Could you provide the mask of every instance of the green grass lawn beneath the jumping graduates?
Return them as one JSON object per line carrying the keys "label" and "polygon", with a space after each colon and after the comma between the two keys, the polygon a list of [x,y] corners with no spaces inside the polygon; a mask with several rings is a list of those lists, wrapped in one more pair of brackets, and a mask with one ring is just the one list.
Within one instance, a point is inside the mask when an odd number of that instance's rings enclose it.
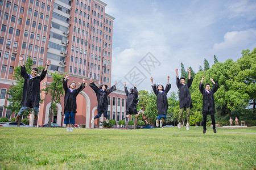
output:
{"label": "green grass lawn beneath the jumping graduates", "polygon": [[0,169],[256,168],[256,128],[65,130],[1,127]]}

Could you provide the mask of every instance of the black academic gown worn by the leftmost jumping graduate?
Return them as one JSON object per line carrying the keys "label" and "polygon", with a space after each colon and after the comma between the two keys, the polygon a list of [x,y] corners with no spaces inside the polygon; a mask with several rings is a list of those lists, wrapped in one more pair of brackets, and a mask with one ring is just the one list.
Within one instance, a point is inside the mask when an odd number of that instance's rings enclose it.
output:
{"label": "black academic gown worn by the leftmost jumping graduate", "polygon": [[26,67],[20,66],[20,74],[24,78],[22,101],[23,107],[38,107],[40,101],[40,82],[46,77],[47,70],[43,70],[39,76],[30,78],[27,74]]}

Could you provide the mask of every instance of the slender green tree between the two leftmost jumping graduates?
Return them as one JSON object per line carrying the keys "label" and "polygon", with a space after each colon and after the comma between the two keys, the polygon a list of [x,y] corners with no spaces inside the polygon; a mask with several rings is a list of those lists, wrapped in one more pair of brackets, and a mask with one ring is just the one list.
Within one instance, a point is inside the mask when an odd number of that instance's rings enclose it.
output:
{"label": "slender green tree between the two leftmost jumping graduates", "polygon": [[46,86],[42,91],[46,92],[46,95],[49,93],[52,97],[51,107],[49,109],[49,128],[51,128],[52,114],[56,108],[57,103],[60,103],[60,97],[64,94],[62,79],[65,75],[60,75],[58,72],[49,73],[52,75],[52,83],[49,86]]}

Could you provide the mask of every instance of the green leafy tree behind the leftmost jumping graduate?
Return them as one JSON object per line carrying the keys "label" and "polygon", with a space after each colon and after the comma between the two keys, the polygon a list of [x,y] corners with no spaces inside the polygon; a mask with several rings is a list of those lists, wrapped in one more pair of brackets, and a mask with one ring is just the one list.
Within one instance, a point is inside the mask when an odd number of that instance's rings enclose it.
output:
{"label": "green leafy tree behind the leftmost jumping graduate", "polygon": [[[24,62],[24,66],[26,67],[26,71],[27,73],[31,73],[32,70],[32,66],[34,66],[34,61],[28,57],[27,61]],[[40,74],[40,72],[44,69],[44,67],[39,66],[38,67],[38,73]],[[9,105],[4,105],[4,107],[6,109],[10,109],[11,113],[15,113],[16,114],[19,113],[20,110],[20,102],[22,101],[22,92],[23,92],[23,84],[24,84],[24,79],[20,74],[20,66],[16,66],[14,69],[14,74],[13,74],[13,78],[16,80],[16,83],[13,83],[9,90],[7,90],[7,94],[11,97],[6,97],[7,101],[9,101]],[[40,99],[40,103],[42,103],[43,100]],[[23,113],[23,117],[27,117],[30,113],[32,113],[32,109],[29,108],[26,112]],[[19,120],[19,124],[20,124]],[[19,126],[18,124],[18,126]]]}

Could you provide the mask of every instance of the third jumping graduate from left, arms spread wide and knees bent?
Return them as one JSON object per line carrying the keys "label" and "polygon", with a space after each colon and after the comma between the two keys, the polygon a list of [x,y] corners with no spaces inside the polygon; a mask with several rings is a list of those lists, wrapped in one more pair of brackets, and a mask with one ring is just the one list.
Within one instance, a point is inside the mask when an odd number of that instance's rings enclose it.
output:
{"label": "third jumping graduate from left, arms spread wide and knees bent", "polygon": [[97,111],[98,111],[98,114],[92,118],[92,120],[90,121],[92,124],[94,123],[94,120],[96,118],[100,118],[101,117],[101,114],[103,113],[104,117],[106,118],[106,122],[108,123],[109,120],[108,120],[108,107],[109,107],[109,104],[108,104],[108,95],[117,90],[117,88],[115,87],[115,85],[117,84],[117,81],[115,81],[115,84],[110,87],[108,89],[108,86],[105,85],[105,84],[102,84],[100,87],[97,87],[94,83],[93,83],[93,80],[92,78],[90,78],[90,87],[93,89],[93,91],[96,93],[96,96],[97,96],[97,100],[98,100],[98,107],[97,107]]}

